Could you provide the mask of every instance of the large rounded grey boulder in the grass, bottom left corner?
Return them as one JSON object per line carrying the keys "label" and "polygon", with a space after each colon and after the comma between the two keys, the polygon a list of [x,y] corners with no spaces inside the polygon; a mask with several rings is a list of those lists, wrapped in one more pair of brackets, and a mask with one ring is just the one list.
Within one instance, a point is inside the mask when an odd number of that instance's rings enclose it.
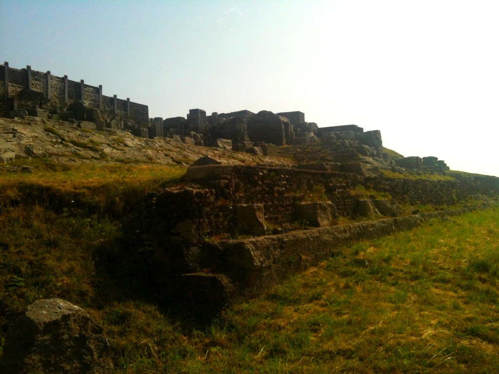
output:
{"label": "large rounded grey boulder in the grass, bottom left corner", "polygon": [[81,308],[61,299],[35,301],[10,328],[0,373],[113,372],[109,341]]}

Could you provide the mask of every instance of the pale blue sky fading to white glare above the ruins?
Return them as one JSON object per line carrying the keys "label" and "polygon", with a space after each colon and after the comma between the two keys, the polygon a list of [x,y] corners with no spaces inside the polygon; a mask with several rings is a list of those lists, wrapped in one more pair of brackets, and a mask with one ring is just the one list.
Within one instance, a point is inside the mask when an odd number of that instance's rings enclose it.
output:
{"label": "pale blue sky fading to white glare above the ruins", "polygon": [[301,111],[499,176],[497,0],[1,0],[0,61],[150,117]]}

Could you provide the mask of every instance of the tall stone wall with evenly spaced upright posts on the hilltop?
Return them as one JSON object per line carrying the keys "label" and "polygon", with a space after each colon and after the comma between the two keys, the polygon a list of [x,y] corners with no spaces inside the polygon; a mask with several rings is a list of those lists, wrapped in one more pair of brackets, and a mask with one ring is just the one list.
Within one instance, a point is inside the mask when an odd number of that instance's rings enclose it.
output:
{"label": "tall stone wall with evenly spaced upright posts on the hilltop", "polygon": [[[5,81],[7,71],[8,84]],[[8,117],[13,110],[14,100],[18,109],[32,107],[30,101],[38,101],[40,107],[56,114],[58,110],[67,108],[77,101],[85,102],[91,108],[101,111],[104,119],[132,120],[138,127],[147,127],[149,124],[149,109],[147,105],[131,102],[129,99],[118,99],[116,96],[102,95],[102,86],[90,86],[83,80],[77,82],[67,79],[67,76],[57,77],[50,74],[24,69],[14,69],[5,62],[0,65],[0,116]],[[6,89],[6,90],[5,90]],[[42,100],[27,100],[31,93],[38,93]],[[82,96],[83,94],[83,96]]]}

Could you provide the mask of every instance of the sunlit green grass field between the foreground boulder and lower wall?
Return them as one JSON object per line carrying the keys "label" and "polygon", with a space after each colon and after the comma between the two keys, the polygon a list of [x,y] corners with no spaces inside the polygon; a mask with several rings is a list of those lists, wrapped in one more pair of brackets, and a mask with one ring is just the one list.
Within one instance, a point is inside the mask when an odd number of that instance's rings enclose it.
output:
{"label": "sunlit green grass field between the foreground boulder and lower wall", "polygon": [[98,315],[120,373],[496,373],[499,210],[363,241],[200,327]]}

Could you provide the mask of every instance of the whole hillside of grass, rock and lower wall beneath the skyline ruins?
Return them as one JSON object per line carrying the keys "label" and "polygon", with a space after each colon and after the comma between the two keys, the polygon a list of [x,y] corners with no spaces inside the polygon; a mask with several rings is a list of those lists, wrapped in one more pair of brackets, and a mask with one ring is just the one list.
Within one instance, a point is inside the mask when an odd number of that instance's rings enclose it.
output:
{"label": "whole hillside of grass, rock and lower wall beneath the skyline ruins", "polygon": [[498,367],[499,179],[334,134],[270,157],[75,126],[0,119],[0,355],[56,297],[117,373]]}

